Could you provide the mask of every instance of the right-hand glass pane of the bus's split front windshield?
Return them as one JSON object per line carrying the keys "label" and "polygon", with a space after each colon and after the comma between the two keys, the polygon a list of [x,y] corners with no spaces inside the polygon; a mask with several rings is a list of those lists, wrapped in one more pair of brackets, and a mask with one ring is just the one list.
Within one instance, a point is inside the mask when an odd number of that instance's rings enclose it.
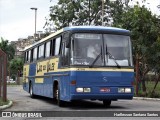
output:
{"label": "right-hand glass pane of the bus's split front windshield", "polygon": [[116,62],[120,66],[132,65],[129,36],[105,34],[104,44],[105,49],[110,54],[106,56],[106,65],[116,66]]}

